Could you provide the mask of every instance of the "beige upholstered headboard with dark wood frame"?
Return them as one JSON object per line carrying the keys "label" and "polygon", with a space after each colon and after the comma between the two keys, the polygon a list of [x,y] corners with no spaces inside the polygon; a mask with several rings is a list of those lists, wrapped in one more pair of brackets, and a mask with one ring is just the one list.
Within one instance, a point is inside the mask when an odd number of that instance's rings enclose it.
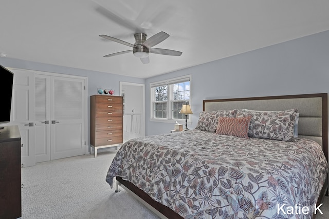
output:
{"label": "beige upholstered headboard with dark wood frame", "polygon": [[267,111],[298,109],[300,113],[298,136],[318,142],[322,145],[326,157],[328,155],[327,93],[233,99],[207,99],[203,101],[204,111],[230,109]]}

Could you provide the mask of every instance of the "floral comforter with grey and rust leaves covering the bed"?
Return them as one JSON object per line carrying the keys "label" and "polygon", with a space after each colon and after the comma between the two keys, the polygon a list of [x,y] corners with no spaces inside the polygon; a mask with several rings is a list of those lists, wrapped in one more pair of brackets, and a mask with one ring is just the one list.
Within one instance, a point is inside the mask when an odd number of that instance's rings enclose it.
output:
{"label": "floral comforter with grey and rust leaves covering the bed", "polygon": [[106,181],[121,176],[184,218],[311,218],[327,169],[321,146],[305,138],[194,129],[126,142]]}

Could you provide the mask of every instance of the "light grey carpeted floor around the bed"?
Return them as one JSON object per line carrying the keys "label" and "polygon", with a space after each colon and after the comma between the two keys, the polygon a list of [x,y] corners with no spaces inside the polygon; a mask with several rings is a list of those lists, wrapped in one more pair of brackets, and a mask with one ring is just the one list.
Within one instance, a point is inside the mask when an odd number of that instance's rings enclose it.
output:
{"label": "light grey carpeted floor around the bed", "polygon": [[[105,182],[116,151],[69,157],[22,168],[22,218],[159,218],[125,190]],[[329,218],[329,197],[321,206]]]}

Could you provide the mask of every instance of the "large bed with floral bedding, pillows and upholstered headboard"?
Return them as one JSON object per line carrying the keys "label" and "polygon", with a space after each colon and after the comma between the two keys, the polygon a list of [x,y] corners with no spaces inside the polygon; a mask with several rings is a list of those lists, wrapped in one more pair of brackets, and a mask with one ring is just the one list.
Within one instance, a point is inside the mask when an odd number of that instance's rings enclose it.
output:
{"label": "large bed with floral bedding, pillows and upholstered headboard", "polygon": [[312,218],[327,194],[327,119],[327,93],[204,100],[195,129],[123,144],[106,182],[168,218]]}

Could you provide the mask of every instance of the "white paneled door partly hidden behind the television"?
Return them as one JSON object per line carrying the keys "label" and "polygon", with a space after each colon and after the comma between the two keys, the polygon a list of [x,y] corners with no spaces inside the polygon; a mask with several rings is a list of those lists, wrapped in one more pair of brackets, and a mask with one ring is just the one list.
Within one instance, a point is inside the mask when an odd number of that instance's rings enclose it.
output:
{"label": "white paneled door partly hidden behind the television", "polygon": [[10,69],[14,73],[10,125],[19,126],[22,165],[35,165],[34,72]]}

